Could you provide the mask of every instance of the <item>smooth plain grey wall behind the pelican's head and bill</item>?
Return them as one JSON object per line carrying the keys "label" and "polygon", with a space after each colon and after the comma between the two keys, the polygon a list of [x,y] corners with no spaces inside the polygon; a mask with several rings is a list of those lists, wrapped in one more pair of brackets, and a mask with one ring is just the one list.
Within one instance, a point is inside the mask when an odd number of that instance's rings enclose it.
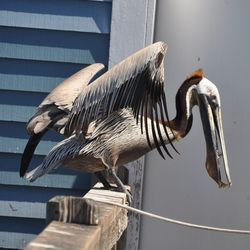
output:
{"label": "smooth plain grey wall behind the pelican's head and bill", "polygon": [[[182,81],[202,67],[219,88],[233,185],[220,190],[205,170],[198,109],[191,132],[176,144],[180,155],[146,157],[143,208],[210,226],[250,227],[250,2],[158,0],[155,41],[168,43],[165,70],[171,117]],[[143,217],[141,250],[249,249],[247,235],[183,228]]]}

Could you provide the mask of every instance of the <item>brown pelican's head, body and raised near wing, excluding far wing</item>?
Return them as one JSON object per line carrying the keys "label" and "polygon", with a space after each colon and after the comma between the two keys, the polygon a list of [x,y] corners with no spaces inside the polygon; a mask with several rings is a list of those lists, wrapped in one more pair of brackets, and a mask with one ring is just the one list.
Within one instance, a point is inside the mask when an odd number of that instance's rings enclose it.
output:
{"label": "brown pelican's head, body and raised near wing, excluding far wing", "polygon": [[154,148],[162,157],[162,148],[171,156],[166,145],[174,147],[186,136],[192,108],[198,105],[207,145],[206,169],[219,187],[230,186],[219,92],[197,70],[180,86],[176,117],[169,120],[163,71],[166,49],[163,42],[152,44],[88,85],[76,99],[65,127],[72,135],[26,178],[34,181],[62,164],[85,172],[106,169],[126,192],[114,169]]}

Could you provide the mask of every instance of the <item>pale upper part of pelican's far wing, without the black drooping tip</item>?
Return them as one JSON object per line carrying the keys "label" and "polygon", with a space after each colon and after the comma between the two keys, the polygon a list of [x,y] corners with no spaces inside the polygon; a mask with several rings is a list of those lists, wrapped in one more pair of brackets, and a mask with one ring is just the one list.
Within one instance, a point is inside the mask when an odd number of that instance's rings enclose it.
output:
{"label": "pale upper part of pelican's far wing, without the black drooping tip", "polygon": [[[92,64],[76,72],[54,88],[28,121],[28,132],[30,134],[39,133],[47,128],[60,131],[61,127],[66,124],[67,115],[77,96],[102,70],[104,70],[103,64]],[[58,122],[60,124],[57,124]]]}

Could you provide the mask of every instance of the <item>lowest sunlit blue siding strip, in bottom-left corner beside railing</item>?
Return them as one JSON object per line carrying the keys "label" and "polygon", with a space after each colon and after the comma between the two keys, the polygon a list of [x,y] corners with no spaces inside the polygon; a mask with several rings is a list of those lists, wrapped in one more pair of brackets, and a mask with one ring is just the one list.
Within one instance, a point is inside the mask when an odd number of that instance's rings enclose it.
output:
{"label": "lowest sunlit blue siding strip, in bottom-left corner beside railing", "polygon": [[35,237],[36,235],[31,233],[0,232],[0,247],[23,249]]}

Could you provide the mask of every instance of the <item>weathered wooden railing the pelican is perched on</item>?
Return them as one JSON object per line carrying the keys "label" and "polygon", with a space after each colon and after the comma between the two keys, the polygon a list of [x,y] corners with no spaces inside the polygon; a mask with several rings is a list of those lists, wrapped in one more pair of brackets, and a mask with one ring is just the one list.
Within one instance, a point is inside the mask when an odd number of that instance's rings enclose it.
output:
{"label": "weathered wooden railing the pelican is perched on", "polygon": [[26,250],[125,250],[126,209],[94,199],[125,204],[126,195],[96,184],[83,198],[57,196],[47,204],[48,226]]}

